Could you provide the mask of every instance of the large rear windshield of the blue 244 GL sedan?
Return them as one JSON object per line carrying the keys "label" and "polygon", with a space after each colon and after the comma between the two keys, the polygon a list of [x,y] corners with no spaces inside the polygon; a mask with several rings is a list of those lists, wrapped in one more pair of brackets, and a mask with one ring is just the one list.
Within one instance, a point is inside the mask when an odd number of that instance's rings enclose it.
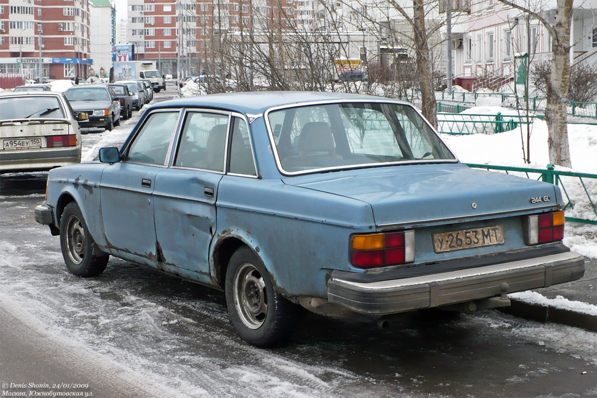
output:
{"label": "large rear windshield of the blue 244 GL sedan", "polygon": [[267,115],[279,164],[289,173],[456,158],[413,107],[334,103]]}

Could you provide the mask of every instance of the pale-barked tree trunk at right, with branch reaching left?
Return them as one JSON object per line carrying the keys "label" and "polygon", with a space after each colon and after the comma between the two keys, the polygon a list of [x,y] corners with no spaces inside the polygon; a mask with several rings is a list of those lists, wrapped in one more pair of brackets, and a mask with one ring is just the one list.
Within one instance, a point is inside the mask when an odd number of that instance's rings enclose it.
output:
{"label": "pale-barked tree trunk at right, with branch reaching left", "polygon": [[574,0],[557,0],[554,24],[541,16],[540,8],[531,10],[510,0],[498,1],[536,18],[543,24],[552,39],[551,71],[546,84],[545,109],[545,121],[549,133],[547,138],[549,161],[555,165],[572,167],[568,147],[567,100],[570,87],[570,27]]}

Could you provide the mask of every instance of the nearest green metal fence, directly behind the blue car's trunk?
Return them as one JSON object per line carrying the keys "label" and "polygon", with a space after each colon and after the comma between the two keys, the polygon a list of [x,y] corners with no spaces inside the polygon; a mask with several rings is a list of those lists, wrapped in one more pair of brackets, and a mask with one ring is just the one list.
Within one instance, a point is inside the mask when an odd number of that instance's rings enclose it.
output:
{"label": "nearest green metal fence, directly behind the blue car's trunk", "polygon": [[[597,174],[560,171],[556,170],[552,164],[547,165],[545,169],[481,165],[476,163],[466,163],[466,165],[487,170],[504,171],[506,174],[516,172],[526,175],[527,178],[535,178],[534,175],[538,174],[537,180],[555,184],[564,192],[565,199],[567,200],[564,205],[564,210],[568,213],[567,217],[565,217],[567,221],[597,225],[597,209],[593,200],[597,195]],[[577,214],[586,214],[586,217],[572,217]]]}

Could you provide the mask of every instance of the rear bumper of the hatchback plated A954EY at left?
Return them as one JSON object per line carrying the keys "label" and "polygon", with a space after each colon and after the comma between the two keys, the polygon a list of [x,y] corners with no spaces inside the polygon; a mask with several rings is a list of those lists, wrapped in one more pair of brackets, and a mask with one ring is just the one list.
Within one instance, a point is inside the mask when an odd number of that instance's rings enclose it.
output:
{"label": "rear bumper of the hatchback plated A954EY at left", "polygon": [[0,171],[42,171],[81,163],[81,146],[0,151]]}

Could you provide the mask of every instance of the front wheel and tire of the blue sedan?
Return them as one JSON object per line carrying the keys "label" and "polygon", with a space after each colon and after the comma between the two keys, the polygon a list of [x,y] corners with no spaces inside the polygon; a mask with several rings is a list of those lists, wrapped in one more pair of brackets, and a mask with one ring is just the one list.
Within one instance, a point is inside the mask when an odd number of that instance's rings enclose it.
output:
{"label": "front wheel and tire of the blue sedan", "polygon": [[106,269],[110,256],[94,255],[94,246],[81,209],[75,202],[70,202],[60,219],[60,248],[70,273],[91,277],[98,276]]}

